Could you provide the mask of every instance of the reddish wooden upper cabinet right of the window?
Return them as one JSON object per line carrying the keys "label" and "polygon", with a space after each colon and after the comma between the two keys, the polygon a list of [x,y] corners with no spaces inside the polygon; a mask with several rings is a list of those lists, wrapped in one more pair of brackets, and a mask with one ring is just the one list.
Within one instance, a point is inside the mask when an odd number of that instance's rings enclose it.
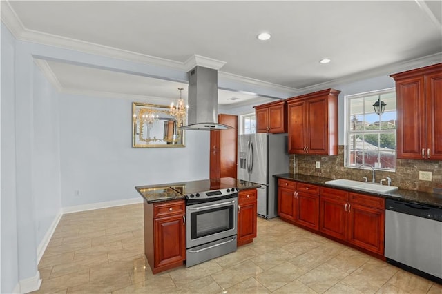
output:
{"label": "reddish wooden upper cabinet right of the window", "polygon": [[442,63],[390,77],[396,81],[397,158],[442,160]]}

